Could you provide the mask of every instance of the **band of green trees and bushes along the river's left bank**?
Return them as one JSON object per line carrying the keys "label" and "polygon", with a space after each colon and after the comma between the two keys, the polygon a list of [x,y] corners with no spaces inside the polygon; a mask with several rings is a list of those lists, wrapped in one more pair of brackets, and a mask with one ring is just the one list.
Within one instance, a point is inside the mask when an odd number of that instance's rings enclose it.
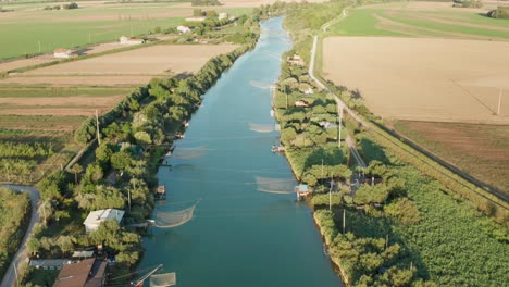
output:
{"label": "band of green trees and bushes along the river's left bank", "polygon": [[[136,266],[142,253],[140,237],[128,226],[146,222],[151,213],[159,159],[176,135],[184,132],[184,124],[201,103],[201,95],[258,39],[258,17],[240,18],[246,39],[243,46],[211,59],[193,76],[154,78],[135,89],[99,117],[100,145],[96,141],[95,118],[82,124],[75,132],[75,140],[89,145],[88,154],[69,171],[57,171],[38,184],[42,202],[39,213],[44,215],[28,241],[32,254],[66,257],[73,250],[103,244],[105,253],[116,259],[110,282],[119,282],[114,278]],[[247,21],[249,25],[244,25]],[[84,235],[82,223],[88,212],[107,208],[126,210],[126,227],[110,221]],[[48,282],[51,284],[51,278],[41,278],[34,270],[24,285],[40,286]]]}

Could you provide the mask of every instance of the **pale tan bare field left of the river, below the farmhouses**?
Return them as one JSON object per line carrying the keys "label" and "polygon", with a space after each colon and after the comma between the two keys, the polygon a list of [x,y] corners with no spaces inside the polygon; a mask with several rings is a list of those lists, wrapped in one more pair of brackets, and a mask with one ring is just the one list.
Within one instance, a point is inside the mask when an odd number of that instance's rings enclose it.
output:
{"label": "pale tan bare field left of the river, below the farmhouses", "polygon": [[32,70],[0,84],[138,85],[154,76],[199,71],[209,59],[227,53],[236,45],[158,45]]}

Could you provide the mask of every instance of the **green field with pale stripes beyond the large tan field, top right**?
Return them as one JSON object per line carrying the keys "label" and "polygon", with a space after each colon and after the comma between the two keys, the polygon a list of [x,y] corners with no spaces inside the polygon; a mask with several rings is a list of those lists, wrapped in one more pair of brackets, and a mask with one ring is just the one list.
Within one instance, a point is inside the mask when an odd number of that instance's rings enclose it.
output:
{"label": "green field with pale stripes beyond the large tan field, top right", "polygon": [[348,10],[348,16],[332,25],[330,34],[508,40],[509,23],[486,17],[488,10],[452,8],[450,2],[367,5]]}

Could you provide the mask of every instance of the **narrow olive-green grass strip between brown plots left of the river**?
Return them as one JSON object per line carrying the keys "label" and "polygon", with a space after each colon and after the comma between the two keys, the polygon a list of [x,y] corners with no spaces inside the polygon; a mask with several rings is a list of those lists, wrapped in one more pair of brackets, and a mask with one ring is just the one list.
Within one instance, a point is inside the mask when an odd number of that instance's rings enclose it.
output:
{"label": "narrow olive-green grass strip between brown plots left of the river", "polygon": [[67,97],[109,97],[128,93],[131,88],[107,87],[64,87],[45,88],[24,86],[18,88],[0,87],[0,98],[67,98]]}

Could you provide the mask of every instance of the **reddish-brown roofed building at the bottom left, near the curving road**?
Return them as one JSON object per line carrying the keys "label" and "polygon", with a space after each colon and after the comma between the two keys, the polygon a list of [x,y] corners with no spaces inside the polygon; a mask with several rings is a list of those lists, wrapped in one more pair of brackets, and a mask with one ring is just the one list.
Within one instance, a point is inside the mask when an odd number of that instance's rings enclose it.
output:
{"label": "reddish-brown roofed building at the bottom left, near the curving road", "polygon": [[105,282],[104,261],[94,258],[62,267],[53,287],[102,287]]}

